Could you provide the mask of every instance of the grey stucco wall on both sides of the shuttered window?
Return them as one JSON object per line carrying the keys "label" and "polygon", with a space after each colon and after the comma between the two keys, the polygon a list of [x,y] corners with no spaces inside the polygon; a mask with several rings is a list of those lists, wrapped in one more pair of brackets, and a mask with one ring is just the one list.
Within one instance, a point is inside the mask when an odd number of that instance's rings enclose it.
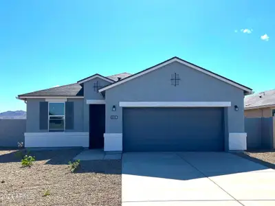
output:
{"label": "grey stucco wall on both sides of the shuttered window", "polygon": [[[67,99],[74,102],[74,129],[65,132],[83,132],[83,99]],[[27,122],[26,133],[47,133],[47,130],[39,128],[39,102],[45,99],[28,99],[27,101]]]}

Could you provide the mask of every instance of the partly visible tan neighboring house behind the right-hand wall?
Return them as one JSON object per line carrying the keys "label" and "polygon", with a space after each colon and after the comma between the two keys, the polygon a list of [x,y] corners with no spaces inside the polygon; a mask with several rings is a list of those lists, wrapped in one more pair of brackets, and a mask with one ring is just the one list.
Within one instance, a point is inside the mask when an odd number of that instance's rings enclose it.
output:
{"label": "partly visible tan neighboring house behind the right-hand wall", "polygon": [[245,97],[245,117],[274,117],[275,89]]}

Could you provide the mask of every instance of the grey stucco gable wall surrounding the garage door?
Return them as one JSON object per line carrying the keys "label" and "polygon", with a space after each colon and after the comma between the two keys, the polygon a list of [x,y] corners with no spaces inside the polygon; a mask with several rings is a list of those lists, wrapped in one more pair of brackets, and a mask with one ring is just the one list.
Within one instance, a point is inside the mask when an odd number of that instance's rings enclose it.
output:
{"label": "grey stucco gable wall surrounding the garage door", "polygon": [[[171,74],[179,74],[179,85],[171,85]],[[122,133],[122,107],[119,102],[231,102],[225,108],[225,130],[228,133],[244,132],[243,90],[173,62],[155,71],[122,83],[106,91],[106,133]],[[112,111],[113,105],[116,111]],[[234,111],[234,105],[239,111]],[[111,119],[118,115],[118,119]]]}

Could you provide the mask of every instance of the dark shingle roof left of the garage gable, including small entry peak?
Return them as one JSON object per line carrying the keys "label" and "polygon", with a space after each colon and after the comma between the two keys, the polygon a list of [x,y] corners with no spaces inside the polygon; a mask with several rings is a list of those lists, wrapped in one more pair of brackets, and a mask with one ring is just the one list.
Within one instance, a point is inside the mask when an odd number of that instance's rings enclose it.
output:
{"label": "dark shingle roof left of the garage gable, including small entry peak", "polygon": [[[112,76],[101,76],[100,74],[96,73],[93,76],[89,76],[88,78],[85,78],[83,80],[87,81],[87,79],[91,80],[91,78],[102,78],[102,79],[108,79],[109,82],[114,82],[118,80],[118,78],[126,78],[127,76],[131,76],[131,73],[118,73],[114,74]],[[49,89],[43,89],[39,91],[34,91],[30,93],[24,93],[19,96],[19,99],[24,99],[26,97],[34,97],[34,98],[39,98],[39,97],[83,97],[83,87],[80,85],[81,81],[78,81],[77,83],[74,84],[66,84],[61,87],[52,87]]]}

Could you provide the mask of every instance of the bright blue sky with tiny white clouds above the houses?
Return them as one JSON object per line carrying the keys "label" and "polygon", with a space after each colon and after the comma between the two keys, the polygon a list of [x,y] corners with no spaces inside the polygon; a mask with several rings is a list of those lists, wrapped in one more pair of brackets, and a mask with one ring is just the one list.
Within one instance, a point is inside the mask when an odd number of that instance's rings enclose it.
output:
{"label": "bright blue sky with tiny white clouds above the houses", "polygon": [[275,89],[275,1],[0,1],[0,112],[21,93],[173,56]]}

